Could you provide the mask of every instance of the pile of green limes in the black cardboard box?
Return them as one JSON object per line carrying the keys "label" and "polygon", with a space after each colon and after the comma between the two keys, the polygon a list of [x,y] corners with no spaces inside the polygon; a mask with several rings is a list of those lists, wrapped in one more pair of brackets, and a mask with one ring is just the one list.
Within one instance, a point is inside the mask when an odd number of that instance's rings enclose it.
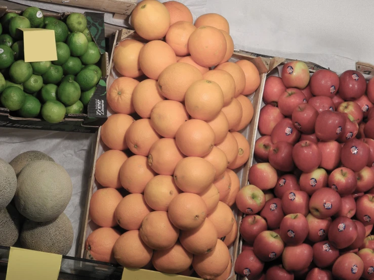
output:
{"label": "pile of green limes in the black cardboard box", "polygon": [[[57,60],[25,62],[18,28],[54,30]],[[36,7],[22,16],[7,13],[0,19],[0,106],[25,118],[41,114],[51,123],[62,121],[65,114],[82,114],[102,75],[95,65],[99,60],[84,15],[72,13],[65,23],[44,17]]]}

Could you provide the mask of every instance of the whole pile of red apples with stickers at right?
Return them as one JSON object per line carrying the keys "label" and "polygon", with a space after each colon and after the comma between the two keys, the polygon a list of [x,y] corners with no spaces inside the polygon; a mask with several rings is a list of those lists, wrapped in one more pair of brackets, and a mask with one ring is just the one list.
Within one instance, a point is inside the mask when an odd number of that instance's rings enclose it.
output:
{"label": "whole pile of red apples with stickers at right", "polygon": [[[374,79],[286,63],[264,88],[238,274],[374,279]],[[361,278],[362,277],[362,278]]]}

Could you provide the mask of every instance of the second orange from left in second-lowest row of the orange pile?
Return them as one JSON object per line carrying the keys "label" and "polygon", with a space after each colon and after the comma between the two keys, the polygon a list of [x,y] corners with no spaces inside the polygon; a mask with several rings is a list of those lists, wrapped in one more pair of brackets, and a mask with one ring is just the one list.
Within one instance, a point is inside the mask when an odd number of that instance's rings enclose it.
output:
{"label": "second orange from left in second-lowest row of the orange pile", "polygon": [[152,211],[142,194],[130,194],[122,198],[115,209],[115,219],[127,230],[139,229],[145,216]]}

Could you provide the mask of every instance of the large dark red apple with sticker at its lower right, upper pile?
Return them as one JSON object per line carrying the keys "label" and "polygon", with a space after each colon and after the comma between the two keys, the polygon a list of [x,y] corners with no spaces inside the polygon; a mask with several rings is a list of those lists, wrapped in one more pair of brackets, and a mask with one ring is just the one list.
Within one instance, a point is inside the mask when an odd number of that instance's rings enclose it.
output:
{"label": "large dark red apple with sticker at its lower right, upper pile", "polygon": [[317,138],[321,141],[334,141],[338,139],[345,124],[344,114],[329,110],[323,111],[319,113],[315,124]]}

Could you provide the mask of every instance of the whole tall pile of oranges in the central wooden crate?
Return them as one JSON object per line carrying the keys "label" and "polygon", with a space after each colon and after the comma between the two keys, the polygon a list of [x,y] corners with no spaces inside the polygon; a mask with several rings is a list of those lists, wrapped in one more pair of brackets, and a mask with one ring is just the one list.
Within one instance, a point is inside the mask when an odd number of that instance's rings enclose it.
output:
{"label": "whole tall pile of oranges in the central wooden crate", "polygon": [[101,129],[109,149],[95,178],[104,188],[90,203],[100,228],[86,250],[129,268],[227,279],[240,188],[233,169],[250,156],[237,131],[252,120],[247,96],[259,72],[247,60],[228,62],[234,44],[218,14],[193,24],[181,3],[144,0],[131,24],[147,43],[125,39],[115,48],[121,77],[107,101],[116,114]]}

